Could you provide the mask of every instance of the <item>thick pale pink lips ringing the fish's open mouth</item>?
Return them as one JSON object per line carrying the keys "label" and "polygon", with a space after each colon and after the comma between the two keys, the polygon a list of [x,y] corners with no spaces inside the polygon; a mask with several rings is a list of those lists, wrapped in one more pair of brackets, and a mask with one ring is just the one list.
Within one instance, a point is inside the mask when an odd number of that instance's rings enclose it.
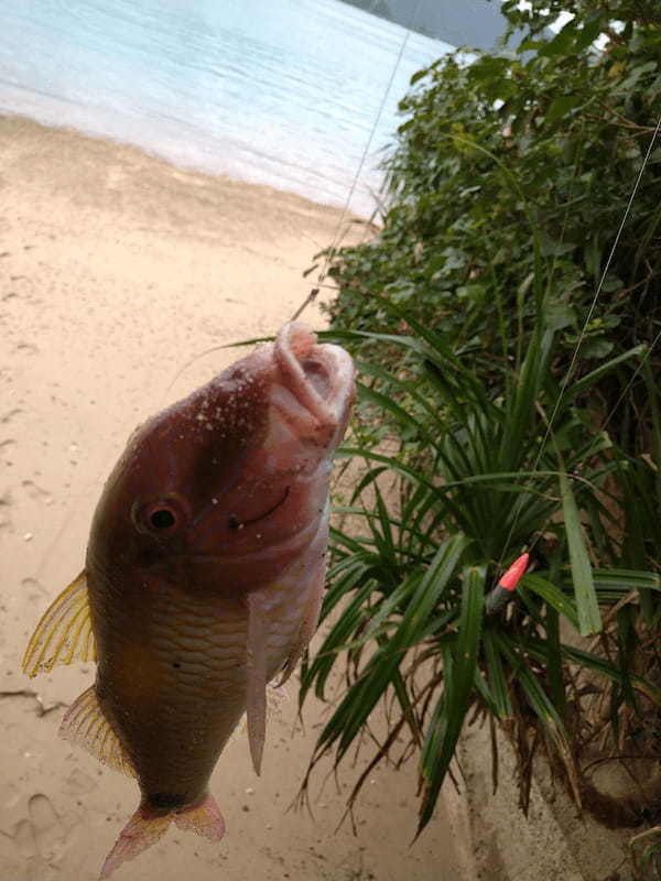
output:
{"label": "thick pale pink lips ringing the fish's open mouth", "polygon": [[[317,335],[302,322],[290,322],[275,338],[273,357],[284,388],[317,425],[335,427],[344,422],[354,395],[355,369],[348,352],[317,342]],[[328,394],[316,388],[313,367],[317,373],[324,371]],[[277,406],[286,410],[283,401],[277,401]]]}

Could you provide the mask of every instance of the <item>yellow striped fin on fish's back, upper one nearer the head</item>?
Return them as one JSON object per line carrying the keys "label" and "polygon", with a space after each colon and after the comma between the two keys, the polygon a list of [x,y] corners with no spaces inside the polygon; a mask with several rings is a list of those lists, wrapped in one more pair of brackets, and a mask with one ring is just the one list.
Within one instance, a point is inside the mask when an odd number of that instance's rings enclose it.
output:
{"label": "yellow striped fin on fish's back, upper one nearer the head", "polygon": [[25,649],[23,672],[32,677],[73,661],[96,661],[85,570],[43,614]]}

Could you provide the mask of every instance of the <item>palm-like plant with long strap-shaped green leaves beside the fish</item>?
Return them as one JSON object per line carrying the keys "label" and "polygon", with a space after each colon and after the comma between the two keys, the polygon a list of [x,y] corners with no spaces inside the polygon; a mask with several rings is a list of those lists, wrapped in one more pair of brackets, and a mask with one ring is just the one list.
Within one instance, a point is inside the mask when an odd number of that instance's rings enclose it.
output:
{"label": "palm-like plant with long strap-shaped green leaves beside the fish", "polygon": [[[593,383],[625,360],[644,358],[644,350],[631,349],[574,383],[560,382],[554,330],[540,309],[520,367],[503,373],[499,388],[485,388],[442,336],[397,306],[387,308],[398,313],[404,335],[327,335],[349,345],[371,339],[402,347],[410,369],[390,376],[359,365],[364,405],[397,426],[400,442],[391,455],[369,443],[343,450],[365,460],[350,504],[339,509],[362,529],[333,531],[322,611],[328,630],[304,666],[300,700],[312,689],[325,698],[340,659],[347,687],[317,739],[303,788],[322,757],[333,753],[337,764],[360,742],[371,711],[384,700],[388,735],[350,805],[377,762],[416,753],[420,833],[472,707],[512,736],[524,807],[529,759],[540,743],[560,759],[581,802],[577,758],[584,741],[567,722],[566,705],[571,698],[582,706],[585,677],[610,683],[614,706],[638,711],[637,694],[661,704],[661,690],[636,674],[635,652],[609,660],[563,642],[566,628],[599,633],[605,607],[661,589],[653,570],[594,566],[641,559],[619,519],[649,476],[643,479],[608,435],[595,431],[593,414],[582,405]],[[398,498],[383,490],[388,475],[398,478]],[[622,480],[631,482],[629,496],[622,494]],[[487,614],[490,588],[525,548],[533,565],[516,603]]]}

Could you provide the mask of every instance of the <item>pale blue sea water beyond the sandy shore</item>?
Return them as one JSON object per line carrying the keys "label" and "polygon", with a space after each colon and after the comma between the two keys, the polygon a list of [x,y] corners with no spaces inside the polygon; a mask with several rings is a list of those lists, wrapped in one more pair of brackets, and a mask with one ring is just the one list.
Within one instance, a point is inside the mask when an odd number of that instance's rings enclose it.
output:
{"label": "pale blue sea water beyond the sandy shore", "polygon": [[[344,205],[405,35],[339,0],[2,0],[0,112]],[[411,75],[449,48],[409,34],[353,210]]]}

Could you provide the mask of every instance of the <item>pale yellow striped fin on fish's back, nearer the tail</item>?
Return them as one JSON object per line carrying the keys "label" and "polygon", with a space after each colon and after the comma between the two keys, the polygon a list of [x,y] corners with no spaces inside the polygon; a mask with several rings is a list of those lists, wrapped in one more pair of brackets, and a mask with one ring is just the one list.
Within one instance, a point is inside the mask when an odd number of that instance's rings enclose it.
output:
{"label": "pale yellow striped fin on fish's back, nearer the tail", "polygon": [[83,747],[109,768],[136,776],[131,760],[99,706],[94,685],[67,709],[59,726],[59,737]]}

